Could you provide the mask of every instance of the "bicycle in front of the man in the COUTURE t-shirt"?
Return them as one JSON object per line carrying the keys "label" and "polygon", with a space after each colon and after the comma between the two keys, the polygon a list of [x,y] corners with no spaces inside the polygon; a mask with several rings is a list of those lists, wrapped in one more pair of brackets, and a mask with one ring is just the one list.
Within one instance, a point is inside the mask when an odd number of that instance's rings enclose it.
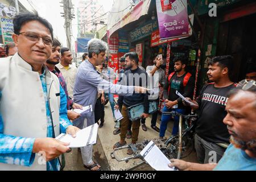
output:
{"label": "bicycle in front of the man in the COUTURE t-shirt", "polygon": [[[167,140],[164,139],[154,139],[152,140],[156,146],[159,147],[159,149],[163,152],[164,155],[167,156],[168,159],[183,159],[186,158],[188,155],[191,154],[191,152],[194,149],[193,144],[193,135],[194,135],[194,128],[195,128],[195,122],[196,119],[199,117],[197,114],[188,114],[183,115],[176,111],[170,111],[170,112],[163,112],[164,115],[172,115],[175,117],[176,115],[179,115],[179,133],[177,135],[171,136]],[[182,130],[183,126],[183,119],[185,119],[185,129]],[[150,140],[144,140],[141,143],[137,144],[129,144],[127,146],[115,148],[113,152],[111,152],[110,156],[112,159],[117,160],[118,162],[125,161],[126,163],[129,162],[131,159],[141,159],[142,162],[139,163],[137,166],[134,166],[132,168],[126,169],[131,170],[135,169],[142,164],[145,164],[146,162],[140,155],[140,152],[143,150],[144,147],[147,146],[147,144],[150,142]],[[118,150],[123,150],[130,148],[133,150],[134,154],[133,156],[120,159],[115,154]]]}

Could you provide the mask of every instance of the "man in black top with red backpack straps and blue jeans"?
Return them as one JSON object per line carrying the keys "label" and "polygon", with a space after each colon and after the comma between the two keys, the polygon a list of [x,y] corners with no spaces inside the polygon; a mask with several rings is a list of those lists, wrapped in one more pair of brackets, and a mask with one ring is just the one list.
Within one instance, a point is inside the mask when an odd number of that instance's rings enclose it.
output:
{"label": "man in black top with red backpack straps and blue jeans", "polygon": [[[177,111],[181,114],[185,113],[185,106],[182,100],[176,94],[176,90],[184,97],[192,97],[194,79],[191,73],[185,71],[187,66],[187,59],[183,57],[175,57],[174,59],[174,71],[168,76],[166,84],[164,84],[164,108],[163,111]],[[162,115],[160,124],[159,137],[163,138],[166,133],[167,123],[170,121],[171,115]],[[172,135],[176,135],[179,131],[179,117],[174,118],[174,127],[172,129]]]}

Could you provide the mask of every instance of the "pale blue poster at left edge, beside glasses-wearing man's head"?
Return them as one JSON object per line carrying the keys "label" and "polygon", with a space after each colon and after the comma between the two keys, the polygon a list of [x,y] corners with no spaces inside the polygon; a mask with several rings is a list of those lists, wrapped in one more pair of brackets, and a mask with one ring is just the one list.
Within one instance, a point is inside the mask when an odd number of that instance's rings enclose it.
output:
{"label": "pale blue poster at left edge, beside glasses-wearing man's head", "polygon": [[2,38],[3,38],[3,43],[12,43],[13,42],[13,33],[14,33],[14,28],[13,28],[13,19],[11,18],[1,18],[1,29],[2,29]]}

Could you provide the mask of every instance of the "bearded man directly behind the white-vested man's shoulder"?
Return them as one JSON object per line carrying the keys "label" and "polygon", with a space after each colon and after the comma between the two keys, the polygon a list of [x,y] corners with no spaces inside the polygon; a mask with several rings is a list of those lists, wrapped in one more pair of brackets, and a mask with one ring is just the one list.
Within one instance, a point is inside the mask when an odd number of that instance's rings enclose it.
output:
{"label": "bearded man directly behind the white-vested man's shoulder", "polygon": [[65,82],[65,79],[63,75],[61,74],[60,70],[56,67],[57,64],[60,63],[61,54],[60,54],[60,48],[61,44],[59,40],[53,39],[52,44],[52,54],[49,57],[49,59],[46,61],[46,66],[54,73],[60,80],[60,85],[62,86],[63,90],[65,91],[66,97],[67,97],[67,109],[68,109],[68,119],[71,121],[74,121],[75,119],[80,117],[80,114],[75,113],[74,111],[71,111],[71,109],[82,109],[82,106],[79,104],[76,104],[69,96],[68,96],[68,90],[67,90],[67,84]]}

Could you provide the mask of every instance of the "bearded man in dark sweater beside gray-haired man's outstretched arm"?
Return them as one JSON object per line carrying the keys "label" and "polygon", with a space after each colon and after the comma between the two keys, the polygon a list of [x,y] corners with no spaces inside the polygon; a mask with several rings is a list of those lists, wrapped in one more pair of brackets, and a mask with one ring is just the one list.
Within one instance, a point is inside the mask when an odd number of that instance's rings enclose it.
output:
{"label": "bearded man in dark sweater beside gray-haired man's outstretched arm", "polygon": [[[133,86],[146,86],[147,81],[143,80],[143,77],[147,79],[147,72],[143,71],[138,67],[139,58],[137,53],[130,52],[125,55],[127,71],[122,79],[123,85],[131,85]],[[139,78],[139,79],[138,79]],[[138,82],[137,82],[138,81]],[[115,106],[116,109],[119,109],[119,106],[122,105],[122,115],[123,119],[121,120],[121,134],[120,141],[115,143],[113,148],[119,148],[125,146],[126,134],[129,128],[129,117],[128,117],[128,109],[127,107],[137,105],[140,103],[144,103],[144,113],[142,114],[142,118],[148,117],[148,96],[146,94],[133,94],[133,96],[119,96],[118,105]],[[132,122],[133,133],[131,134],[131,143],[135,144],[138,140],[139,135],[139,127],[141,126],[141,119]],[[128,149],[128,155],[133,154],[133,150]]]}

